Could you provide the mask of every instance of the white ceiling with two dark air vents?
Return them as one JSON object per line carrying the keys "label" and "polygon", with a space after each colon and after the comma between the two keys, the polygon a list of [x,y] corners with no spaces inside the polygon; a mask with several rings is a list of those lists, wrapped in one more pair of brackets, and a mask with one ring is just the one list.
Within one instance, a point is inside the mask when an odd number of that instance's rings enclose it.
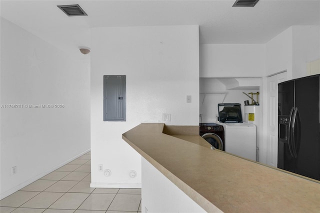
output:
{"label": "white ceiling with two dark air vents", "polygon": [[[200,43],[265,43],[291,25],[320,25],[320,0],[1,0],[1,16],[67,51],[90,46],[90,28],[199,25]],[[79,4],[68,17],[56,5]]]}

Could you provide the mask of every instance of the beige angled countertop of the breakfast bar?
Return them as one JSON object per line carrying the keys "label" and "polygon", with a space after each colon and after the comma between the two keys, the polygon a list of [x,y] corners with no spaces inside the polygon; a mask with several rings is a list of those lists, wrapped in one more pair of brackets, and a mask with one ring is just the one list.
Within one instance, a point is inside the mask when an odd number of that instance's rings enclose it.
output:
{"label": "beige angled countertop of the breakfast bar", "polygon": [[319,212],[320,184],[210,149],[198,126],[141,123],[122,138],[203,209]]}

